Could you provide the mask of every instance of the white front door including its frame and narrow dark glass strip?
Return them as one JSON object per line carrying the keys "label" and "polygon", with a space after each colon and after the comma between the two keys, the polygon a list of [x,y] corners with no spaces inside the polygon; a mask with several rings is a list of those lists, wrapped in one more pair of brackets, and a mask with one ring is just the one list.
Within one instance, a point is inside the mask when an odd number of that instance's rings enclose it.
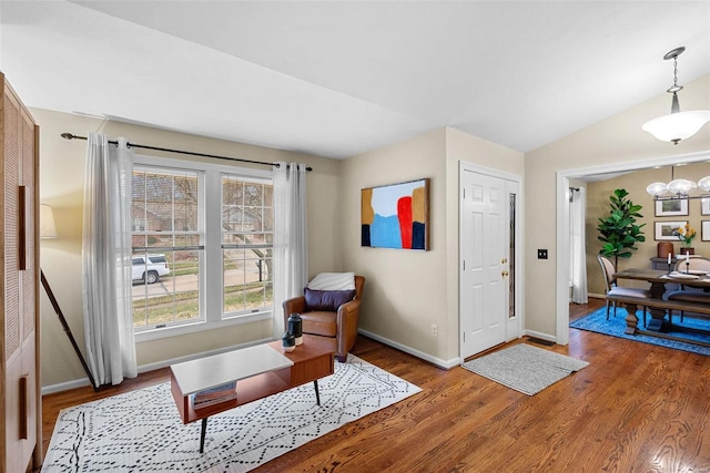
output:
{"label": "white front door including its frame and narrow dark glass strip", "polygon": [[459,163],[459,358],[523,332],[521,177]]}

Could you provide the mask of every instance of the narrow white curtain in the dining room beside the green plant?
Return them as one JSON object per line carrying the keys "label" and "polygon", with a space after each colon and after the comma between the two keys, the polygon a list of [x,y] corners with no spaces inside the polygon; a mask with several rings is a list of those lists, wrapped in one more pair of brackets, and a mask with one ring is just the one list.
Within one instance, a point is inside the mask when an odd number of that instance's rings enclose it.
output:
{"label": "narrow white curtain in the dining room beside the green plant", "polygon": [[587,304],[587,238],[585,218],[587,209],[587,189],[580,187],[572,192],[569,204],[569,248],[571,253],[569,275],[572,282],[572,302]]}

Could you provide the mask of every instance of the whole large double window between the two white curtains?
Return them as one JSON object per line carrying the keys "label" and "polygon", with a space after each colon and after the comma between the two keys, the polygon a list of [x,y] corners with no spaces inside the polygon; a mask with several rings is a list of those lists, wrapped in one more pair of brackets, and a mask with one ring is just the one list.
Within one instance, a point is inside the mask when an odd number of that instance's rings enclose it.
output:
{"label": "whole large double window between the two white curtains", "polygon": [[136,336],[271,317],[271,172],[136,156],[132,184]]}

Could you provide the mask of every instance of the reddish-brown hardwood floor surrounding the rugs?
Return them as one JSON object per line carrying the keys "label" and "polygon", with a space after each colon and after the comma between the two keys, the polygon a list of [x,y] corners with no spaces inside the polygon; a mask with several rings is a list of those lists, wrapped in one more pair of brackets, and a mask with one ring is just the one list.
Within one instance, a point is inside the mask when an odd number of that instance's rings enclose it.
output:
{"label": "reddish-brown hardwood floor surrounding the rugs", "polygon": [[[570,318],[602,305],[570,306]],[[590,366],[528,397],[359,337],[354,354],[423,392],[255,471],[710,471],[707,357],[576,329],[569,338],[569,346],[548,349]],[[99,393],[85,388],[47,395],[45,449],[60,409],[168,379],[168,370],[159,370]]]}

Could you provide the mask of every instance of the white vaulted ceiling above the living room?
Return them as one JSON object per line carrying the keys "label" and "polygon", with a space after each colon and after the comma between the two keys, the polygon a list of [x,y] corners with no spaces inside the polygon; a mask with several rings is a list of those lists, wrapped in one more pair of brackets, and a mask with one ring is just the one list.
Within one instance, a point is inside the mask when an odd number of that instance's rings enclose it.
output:
{"label": "white vaulted ceiling above the living room", "polygon": [[662,94],[676,47],[681,84],[710,73],[708,1],[2,1],[0,19],[30,106],[335,158],[442,126],[528,152]]}

